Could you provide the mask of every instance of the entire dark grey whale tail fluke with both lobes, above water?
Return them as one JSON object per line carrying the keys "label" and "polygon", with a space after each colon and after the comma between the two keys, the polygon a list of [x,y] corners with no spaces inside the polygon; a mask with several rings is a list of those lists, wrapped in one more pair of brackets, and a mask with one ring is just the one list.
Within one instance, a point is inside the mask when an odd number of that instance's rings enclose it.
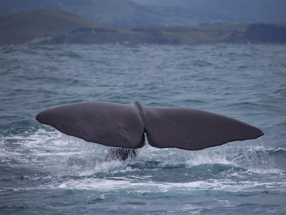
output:
{"label": "entire dark grey whale tail fluke with both lobes, above water", "polygon": [[36,119],[88,142],[122,148],[201,150],[236,140],[256,139],[263,132],[237,119],[203,110],[84,102],[44,110]]}

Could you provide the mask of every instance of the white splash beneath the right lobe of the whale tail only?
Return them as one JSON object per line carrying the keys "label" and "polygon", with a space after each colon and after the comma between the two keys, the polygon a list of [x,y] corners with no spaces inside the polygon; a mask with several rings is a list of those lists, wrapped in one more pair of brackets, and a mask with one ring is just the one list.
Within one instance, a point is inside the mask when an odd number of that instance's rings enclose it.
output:
{"label": "white splash beneath the right lobe of the whale tail only", "polygon": [[[165,166],[176,166],[181,163],[188,167],[200,164],[234,165],[251,171],[277,172],[279,166],[271,155],[272,149],[266,149],[262,139],[235,141],[221,146],[206,148],[199,151],[187,151],[177,148],[144,147],[142,159],[163,160]],[[143,156],[143,157],[144,157]]]}

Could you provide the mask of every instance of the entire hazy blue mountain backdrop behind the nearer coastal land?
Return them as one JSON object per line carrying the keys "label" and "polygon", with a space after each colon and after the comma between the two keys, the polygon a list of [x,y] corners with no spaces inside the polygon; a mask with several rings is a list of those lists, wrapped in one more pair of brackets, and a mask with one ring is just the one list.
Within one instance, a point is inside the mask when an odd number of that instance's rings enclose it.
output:
{"label": "entire hazy blue mountain backdrop behind the nearer coastal land", "polygon": [[47,7],[108,25],[286,22],[285,0],[0,0],[0,14]]}

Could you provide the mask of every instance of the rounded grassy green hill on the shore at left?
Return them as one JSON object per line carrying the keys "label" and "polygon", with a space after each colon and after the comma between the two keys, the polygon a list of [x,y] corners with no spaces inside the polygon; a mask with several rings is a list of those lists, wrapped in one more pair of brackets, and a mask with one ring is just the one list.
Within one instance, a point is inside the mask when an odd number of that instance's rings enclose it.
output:
{"label": "rounded grassy green hill on the shore at left", "polygon": [[0,34],[7,36],[26,34],[43,36],[48,28],[50,29],[48,34],[66,34],[80,27],[98,28],[105,26],[76,14],[54,9],[0,15]]}

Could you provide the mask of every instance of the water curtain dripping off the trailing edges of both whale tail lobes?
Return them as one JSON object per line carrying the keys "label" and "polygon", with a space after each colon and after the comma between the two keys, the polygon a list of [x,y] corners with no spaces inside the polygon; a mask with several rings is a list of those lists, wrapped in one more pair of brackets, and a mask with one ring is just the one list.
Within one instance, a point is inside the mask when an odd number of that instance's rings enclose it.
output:
{"label": "water curtain dripping off the trailing edges of both whale tail lobes", "polygon": [[[97,143],[86,142],[83,139],[63,135],[63,142],[68,142],[69,146],[80,146],[83,151],[88,151],[86,154],[88,157],[85,159],[86,166],[89,163],[94,165],[96,163],[94,170],[103,170],[98,168],[98,165],[102,165],[104,158],[110,153],[110,148]],[[153,152],[157,153],[154,154]],[[125,162],[121,162],[121,167],[126,167],[134,162],[144,162],[159,160],[158,168],[172,168],[176,166],[195,166],[200,164],[226,164],[240,166],[243,168],[251,170],[270,170],[275,169],[275,163],[273,156],[269,156],[268,152],[265,150],[262,139],[256,140],[245,140],[245,141],[235,141],[229,142],[227,144],[206,148],[199,151],[188,151],[178,148],[164,148],[158,149],[150,146],[147,141],[143,148],[138,150],[138,157],[130,157]],[[74,156],[74,155],[73,155]],[[95,162],[91,161],[91,156],[93,159],[98,159]],[[112,166],[112,165],[111,165]],[[107,167],[107,165],[105,165]],[[119,167],[117,165],[117,167]],[[114,171],[114,168],[111,169]]]}

